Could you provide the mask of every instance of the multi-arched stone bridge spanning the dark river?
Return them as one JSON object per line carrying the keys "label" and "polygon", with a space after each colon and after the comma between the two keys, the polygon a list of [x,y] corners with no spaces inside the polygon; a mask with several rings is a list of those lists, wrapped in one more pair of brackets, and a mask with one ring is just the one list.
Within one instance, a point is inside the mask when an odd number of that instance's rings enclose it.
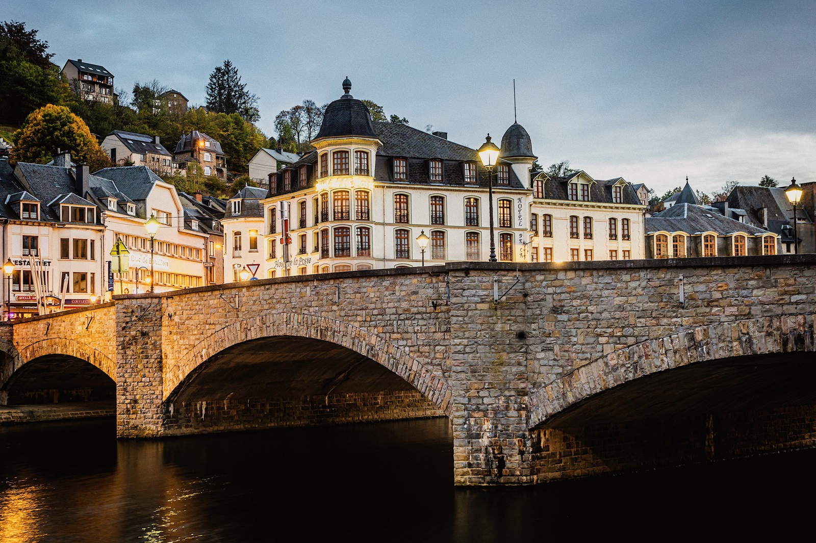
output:
{"label": "multi-arched stone bridge spanning the dark river", "polygon": [[0,327],[0,404],[118,435],[448,417],[457,484],[814,445],[816,256],[440,267],[131,294]]}

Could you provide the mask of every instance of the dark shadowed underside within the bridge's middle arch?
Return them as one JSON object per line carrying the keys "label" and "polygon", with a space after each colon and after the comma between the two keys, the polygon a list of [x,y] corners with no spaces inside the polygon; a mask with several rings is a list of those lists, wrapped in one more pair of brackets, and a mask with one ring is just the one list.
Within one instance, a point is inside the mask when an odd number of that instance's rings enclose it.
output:
{"label": "dark shadowed underside within the bridge's middle arch", "polygon": [[288,335],[246,340],[212,355],[164,405],[166,435],[445,415],[369,356]]}

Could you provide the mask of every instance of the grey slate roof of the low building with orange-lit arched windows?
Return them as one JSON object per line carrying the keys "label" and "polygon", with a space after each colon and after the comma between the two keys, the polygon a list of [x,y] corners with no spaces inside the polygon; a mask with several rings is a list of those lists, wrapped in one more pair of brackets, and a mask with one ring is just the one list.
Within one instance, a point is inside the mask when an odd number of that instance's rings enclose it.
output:
{"label": "grey slate roof of the low building with orange-lit arched windows", "polygon": [[762,228],[728,219],[716,210],[707,210],[693,204],[672,205],[667,210],[646,217],[646,235],[654,232],[685,232],[691,235],[716,232],[721,236],[730,236],[736,232],[745,232],[752,236],[770,233]]}

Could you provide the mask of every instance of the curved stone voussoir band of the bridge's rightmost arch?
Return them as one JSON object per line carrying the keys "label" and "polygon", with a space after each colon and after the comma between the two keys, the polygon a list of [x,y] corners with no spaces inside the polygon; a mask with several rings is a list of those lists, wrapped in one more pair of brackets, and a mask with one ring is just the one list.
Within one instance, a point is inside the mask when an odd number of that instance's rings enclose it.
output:
{"label": "curved stone voussoir band of the bridge's rightmost arch", "polygon": [[610,352],[530,395],[530,429],[615,386],[666,369],[750,355],[816,351],[814,316],[767,316],[712,324]]}

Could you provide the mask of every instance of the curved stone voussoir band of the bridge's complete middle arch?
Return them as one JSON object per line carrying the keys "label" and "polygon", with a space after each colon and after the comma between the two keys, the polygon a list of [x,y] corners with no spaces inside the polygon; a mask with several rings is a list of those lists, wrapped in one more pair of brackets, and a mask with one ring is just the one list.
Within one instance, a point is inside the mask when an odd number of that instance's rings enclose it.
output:
{"label": "curved stone voussoir band of the bridge's complete middle arch", "polygon": [[184,380],[212,356],[239,343],[277,336],[317,339],[364,355],[401,377],[450,417],[450,385],[409,351],[389,342],[382,334],[369,333],[342,320],[304,313],[269,312],[239,320],[212,333],[166,368],[162,400],[171,398]]}

